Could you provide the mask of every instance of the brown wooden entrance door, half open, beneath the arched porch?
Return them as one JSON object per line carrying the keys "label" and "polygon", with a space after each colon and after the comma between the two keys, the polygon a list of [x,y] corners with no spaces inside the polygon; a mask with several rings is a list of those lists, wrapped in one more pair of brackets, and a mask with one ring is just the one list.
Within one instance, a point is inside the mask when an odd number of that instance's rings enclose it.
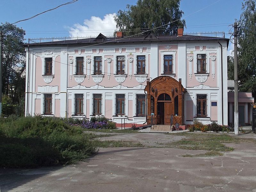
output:
{"label": "brown wooden entrance door, half open, beneath the arched porch", "polygon": [[157,101],[157,124],[170,124],[172,116],[172,102]]}

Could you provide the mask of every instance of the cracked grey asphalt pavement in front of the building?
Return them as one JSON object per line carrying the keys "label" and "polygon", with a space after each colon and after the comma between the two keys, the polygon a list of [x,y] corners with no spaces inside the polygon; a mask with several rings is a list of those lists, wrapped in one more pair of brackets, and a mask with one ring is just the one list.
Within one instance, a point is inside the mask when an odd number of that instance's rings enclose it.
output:
{"label": "cracked grey asphalt pavement in front of the building", "polygon": [[[179,140],[162,133],[115,134],[115,140]],[[249,133],[239,137],[255,138]],[[123,139],[122,139],[123,138]],[[107,139],[107,138],[104,138]],[[109,137],[108,139],[111,139]],[[256,192],[256,144],[226,143],[224,156],[180,157],[205,151],[178,148],[101,148],[86,162],[65,167],[0,169],[0,191],[232,191]]]}

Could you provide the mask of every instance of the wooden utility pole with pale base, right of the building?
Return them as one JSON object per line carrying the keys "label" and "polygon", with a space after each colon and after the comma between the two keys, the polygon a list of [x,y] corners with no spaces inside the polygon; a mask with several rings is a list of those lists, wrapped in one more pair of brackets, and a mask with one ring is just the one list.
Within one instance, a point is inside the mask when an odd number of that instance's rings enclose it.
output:
{"label": "wooden utility pole with pale base, right of the building", "polygon": [[237,80],[237,23],[234,23],[234,82],[235,82],[235,98],[234,98],[234,109],[235,109],[235,135],[238,135],[238,80]]}

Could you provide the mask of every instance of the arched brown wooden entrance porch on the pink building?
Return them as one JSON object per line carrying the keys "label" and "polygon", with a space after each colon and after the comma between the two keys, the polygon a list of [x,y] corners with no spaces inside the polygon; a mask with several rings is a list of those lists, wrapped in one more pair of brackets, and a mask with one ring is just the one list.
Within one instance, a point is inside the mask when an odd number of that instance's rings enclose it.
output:
{"label": "arched brown wooden entrance porch on the pink building", "polygon": [[[147,92],[147,114],[154,115],[154,124],[184,124],[184,92],[181,79],[159,76],[149,81],[144,89]],[[151,124],[151,118],[148,118]]]}

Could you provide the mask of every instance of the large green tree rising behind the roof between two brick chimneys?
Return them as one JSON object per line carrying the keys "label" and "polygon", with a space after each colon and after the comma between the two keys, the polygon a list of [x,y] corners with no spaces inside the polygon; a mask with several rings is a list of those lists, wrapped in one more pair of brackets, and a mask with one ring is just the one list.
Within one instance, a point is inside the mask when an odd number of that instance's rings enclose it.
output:
{"label": "large green tree rising behind the roof between two brick chimneys", "polygon": [[185,27],[185,20],[180,20],[180,0],[138,0],[136,5],[127,5],[127,10],[119,10],[115,16],[118,31],[134,35],[148,29],[155,35],[176,35],[179,27]]}

